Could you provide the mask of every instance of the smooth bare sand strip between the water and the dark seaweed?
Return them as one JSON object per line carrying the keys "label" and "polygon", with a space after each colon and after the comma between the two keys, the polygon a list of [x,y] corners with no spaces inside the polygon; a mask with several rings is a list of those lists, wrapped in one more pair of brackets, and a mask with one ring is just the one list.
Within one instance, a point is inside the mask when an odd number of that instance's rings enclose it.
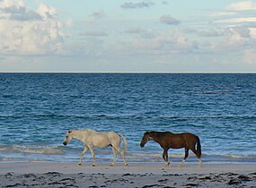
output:
{"label": "smooth bare sand strip between the water and the dark seaweed", "polygon": [[70,173],[106,173],[106,174],[123,174],[137,173],[144,174],[151,172],[161,175],[163,172],[175,174],[206,174],[206,173],[254,173],[256,172],[256,163],[207,163],[198,167],[198,163],[185,163],[182,167],[178,167],[180,163],[171,163],[170,167],[165,167],[163,162],[152,163],[128,163],[128,167],[123,166],[122,162],[116,163],[114,167],[110,167],[110,163],[97,163],[93,167],[91,162],[83,163],[81,166],[78,162],[2,162],[0,163],[0,174],[14,172],[16,174],[23,173],[47,173],[59,172],[64,174]]}

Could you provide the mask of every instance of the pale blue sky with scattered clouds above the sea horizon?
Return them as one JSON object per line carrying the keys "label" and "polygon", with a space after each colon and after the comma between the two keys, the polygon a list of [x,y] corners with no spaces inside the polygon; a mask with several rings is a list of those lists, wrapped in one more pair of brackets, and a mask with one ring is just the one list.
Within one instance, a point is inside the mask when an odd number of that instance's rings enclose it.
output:
{"label": "pale blue sky with scattered clouds above the sea horizon", "polygon": [[256,73],[256,0],[0,0],[0,73]]}

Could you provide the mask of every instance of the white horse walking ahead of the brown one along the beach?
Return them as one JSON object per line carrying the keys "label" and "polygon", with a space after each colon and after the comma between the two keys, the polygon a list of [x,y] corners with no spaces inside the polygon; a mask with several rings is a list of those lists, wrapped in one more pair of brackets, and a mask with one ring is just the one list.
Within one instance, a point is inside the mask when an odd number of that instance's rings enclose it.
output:
{"label": "white horse walking ahead of the brown one along the beach", "polygon": [[[120,149],[120,136],[124,141],[124,149]],[[82,160],[84,158],[85,152],[89,149],[93,157],[93,167],[96,165],[95,154],[93,147],[106,148],[111,146],[114,159],[110,166],[114,166],[117,159],[117,151],[122,155],[125,166],[128,166],[126,162],[125,153],[127,151],[128,142],[122,134],[117,134],[116,132],[96,132],[93,129],[77,129],[66,132],[66,137],[63,144],[66,146],[72,139],[76,139],[84,142],[84,151],[79,160],[79,165],[82,165]]]}

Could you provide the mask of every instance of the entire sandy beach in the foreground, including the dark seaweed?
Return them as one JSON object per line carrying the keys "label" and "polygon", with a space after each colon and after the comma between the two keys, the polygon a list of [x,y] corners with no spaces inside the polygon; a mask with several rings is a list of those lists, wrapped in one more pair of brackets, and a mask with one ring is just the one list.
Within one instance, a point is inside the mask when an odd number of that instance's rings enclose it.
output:
{"label": "entire sandy beach in the foreground, including the dark seaweed", "polygon": [[255,187],[256,164],[0,163],[1,187]]}

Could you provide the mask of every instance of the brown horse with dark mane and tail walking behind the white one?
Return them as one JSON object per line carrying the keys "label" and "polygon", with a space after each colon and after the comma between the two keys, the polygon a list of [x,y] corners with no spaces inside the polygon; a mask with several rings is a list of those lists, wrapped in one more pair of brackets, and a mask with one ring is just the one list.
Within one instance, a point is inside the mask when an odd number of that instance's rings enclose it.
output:
{"label": "brown horse with dark mane and tail walking behind the white one", "polygon": [[[172,133],[172,132],[145,132],[140,142],[140,147],[144,147],[146,142],[149,140],[156,141],[163,148],[163,159],[165,160],[166,166],[169,166],[168,161],[168,150],[185,148],[185,157],[182,159],[179,167],[183,165],[186,158],[189,156],[189,150],[192,150],[199,158],[199,167],[201,167],[201,144],[199,137],[190,133]],[[195,146],[197,144],[197,150]]]}

